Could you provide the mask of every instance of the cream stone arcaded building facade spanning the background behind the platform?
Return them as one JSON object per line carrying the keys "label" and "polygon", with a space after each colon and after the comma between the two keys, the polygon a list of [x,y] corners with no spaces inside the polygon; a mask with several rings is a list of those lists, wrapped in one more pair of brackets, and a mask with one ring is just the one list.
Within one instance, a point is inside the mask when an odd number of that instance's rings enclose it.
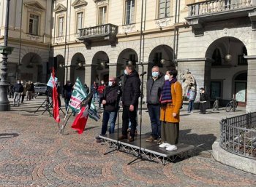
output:
{"label": "cream stone arcaded building facade spanning the background behind the platform", "polygon": [[[91,85],[120,75],[132,63],[139,73],[147,72],[146,82],[153,65],[163,73],[176,67],[178,81],[182,73],[191,73],[195,87],[205,87],[212,99],[222,98],[225,104],[235,97],[247,111],[256,109],[255,0],[11,2],[16,15],[10,15],[10,45],[15,46],[10,65],[16,65],[11,72],[20,79],[31,71],[33,81],[46,81],[53,66],[62,84],[79,77]],[[29,16],[33,11],[36,17]],[[28,20],[37,16],[39,33],[28,34]],[[31,53],[37,55],[26,57]]]}

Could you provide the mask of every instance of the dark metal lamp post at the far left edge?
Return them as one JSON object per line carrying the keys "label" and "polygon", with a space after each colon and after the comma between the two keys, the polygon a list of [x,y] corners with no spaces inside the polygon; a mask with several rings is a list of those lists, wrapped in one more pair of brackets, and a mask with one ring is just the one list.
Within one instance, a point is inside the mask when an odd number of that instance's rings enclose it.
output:
{"label": "dark metal lamp post at the far left edge", "polygon": [[[5,27],[4,27],[4,46],[0,46],[0,53],[2,54],[1,63],[1,80],[0,80],[0,111],[10,111],[10,102],[8,100],[8,87],[7,82],[7,59],[8,55],[12,54],[13,47],[8,47],[8,28],[9,28],[9,10],[10,0],[7,0],[6,14],[5,14]],[[20,28],[21,29],[21,28]]]}

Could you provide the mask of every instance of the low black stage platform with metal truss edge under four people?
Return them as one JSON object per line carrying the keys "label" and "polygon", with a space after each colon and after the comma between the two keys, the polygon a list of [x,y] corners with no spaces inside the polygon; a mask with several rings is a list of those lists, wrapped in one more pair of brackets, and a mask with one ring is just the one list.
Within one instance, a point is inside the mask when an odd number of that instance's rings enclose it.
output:
{"label": "low black stage platform with metal truss edge under four people", "polygon": [[180,143],[177,145],[177,150],[166,151],[165,148],[159,148],[157,142],[146,142],[146,138],[148,138],[148,135],[141,135],[140,148],[139,135],[135,137],[134,142],[129,142],[128,140],[119,140],[117,142],[117,137],[117,132],[110,135],[99,135],[99,138],[102,138],[102,142],[107,144],[111,148],[115,148],[119,151],[124,151],[135,156],[138,156],[140,149],[140,156],[142,156],[143,159],[159,162],[161,164],[166,164],[167,161],[174,162],[177,158],[182,159],[184,158],[184,156],[189,155],[189,151],[192,151],[192,149],[194,149],[194,146]]}

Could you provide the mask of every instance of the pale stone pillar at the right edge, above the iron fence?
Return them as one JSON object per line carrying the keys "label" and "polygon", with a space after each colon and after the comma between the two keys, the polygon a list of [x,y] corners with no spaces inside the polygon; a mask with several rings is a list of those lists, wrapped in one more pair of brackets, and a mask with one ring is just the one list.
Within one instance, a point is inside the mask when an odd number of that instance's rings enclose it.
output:
{"label": "pale stone pillar at the right edge, above the iron fence", "polygon": [[256,56],[248,59],[246,112],[256,111]]}

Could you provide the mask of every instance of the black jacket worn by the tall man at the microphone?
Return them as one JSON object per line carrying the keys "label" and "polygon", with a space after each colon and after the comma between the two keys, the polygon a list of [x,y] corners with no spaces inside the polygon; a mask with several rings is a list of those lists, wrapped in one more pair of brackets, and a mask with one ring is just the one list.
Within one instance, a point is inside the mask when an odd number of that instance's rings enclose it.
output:
{"label": "black jacket worn by the tall man at the microphone", "polygon": [[140,78],[137,71],[124,76],[121,101],[124,106],[138,106],[140,98]]}

